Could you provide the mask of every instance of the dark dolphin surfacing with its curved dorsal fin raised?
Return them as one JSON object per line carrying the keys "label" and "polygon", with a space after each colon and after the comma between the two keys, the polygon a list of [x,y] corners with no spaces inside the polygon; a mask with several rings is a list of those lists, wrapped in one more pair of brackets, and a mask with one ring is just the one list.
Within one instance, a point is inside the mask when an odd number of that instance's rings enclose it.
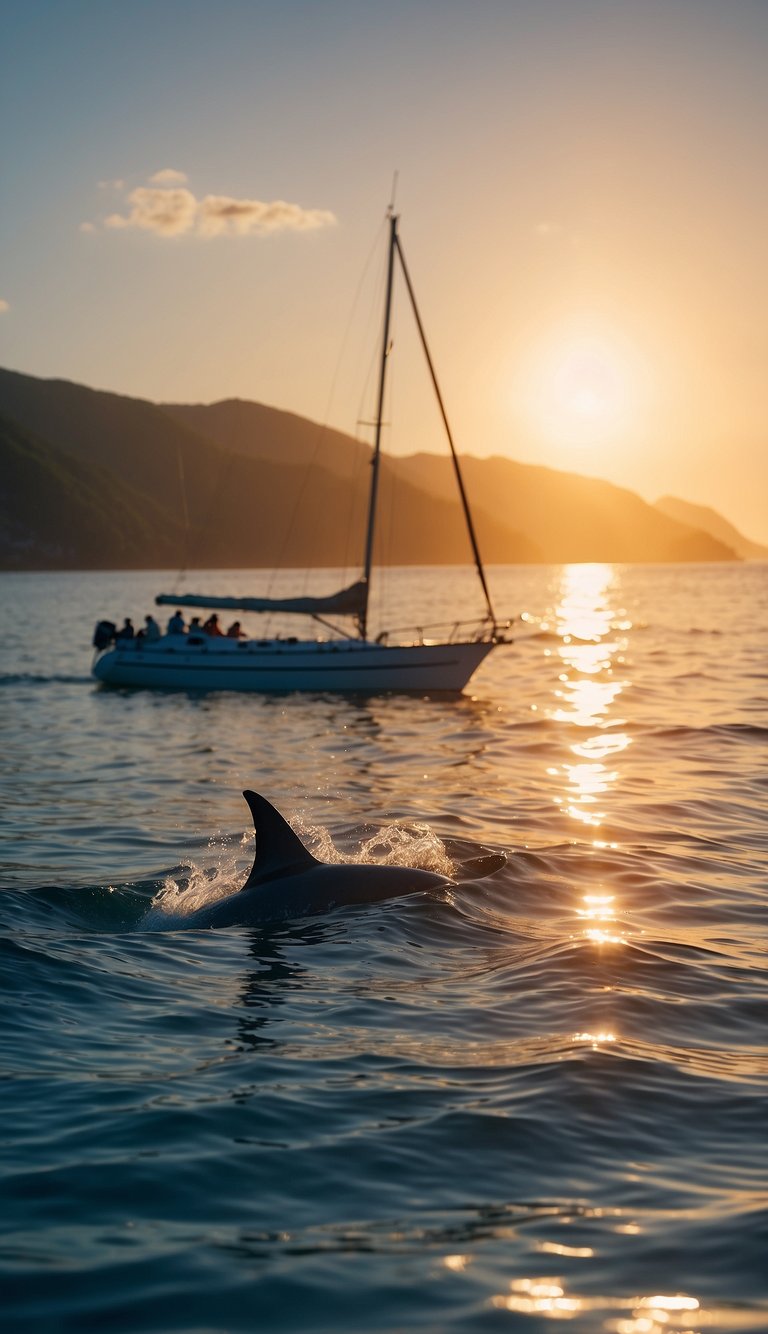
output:
{"label": "dark dolphin surfacing with its curved dorsal fin raised", "polygon": [[377,903],[460,880],[479,880],[497,871],[507,858],[489,852],[464,862],[456,878],[412,866],[319,862],[287,820],[264,796],[243,792],[256,831],[256,856],[243,888],[191,914],[201,927],[251,926],[328,912],[341,903]]}

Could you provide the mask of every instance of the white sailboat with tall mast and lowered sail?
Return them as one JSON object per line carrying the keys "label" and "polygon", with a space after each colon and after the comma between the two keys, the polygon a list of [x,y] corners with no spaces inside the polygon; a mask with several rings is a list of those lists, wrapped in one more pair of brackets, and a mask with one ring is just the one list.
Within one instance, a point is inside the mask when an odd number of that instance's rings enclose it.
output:
{"label": "white sailboat with tall mast and lowered sail", "polygon": [[[329,596],[304,598],[217,598],[208,594],[159,594],[157,606],[199,607],[211,611],[285,612],[312,618],[329,638],[300,639],[229,639],[201,631],[167,634],[159,639],[116,639],[109,632],[95,636],[93,675],[109,686],[137,686],[165,690],[237,690],[237,691],[460,691],[472,674],[499,643],[505,643],[509,622],[496,619],[488,582],[480,558],[469,502],[464,488],[459,456],[437,384],[432,356],[427,346],[421,316],[400,244],[399,217],[388,211],[389,248],[384,327],[379,370],[377,411],[368,496],[368,522],[360,576],[349,587]],[[368,635],[368,604],[373,570],[373,538],[381,460],[384,394],[389,356],[389,325],[399,264],[413,311],[419,338],[427,358],[432,386],[445,427],[467,532],[475,558],[485,614],[472,623],[457,623],[449,635],[429,639],[423,631],[409,636],[400,632],[397,643],[391,634]],[[353,628],[340,630],[328,618],[349,618]],[[100,623],[104,626],[104,623]],[[108,626],[109,623],[107,623]],[[107,640],[107,642],[105,642]]]}

